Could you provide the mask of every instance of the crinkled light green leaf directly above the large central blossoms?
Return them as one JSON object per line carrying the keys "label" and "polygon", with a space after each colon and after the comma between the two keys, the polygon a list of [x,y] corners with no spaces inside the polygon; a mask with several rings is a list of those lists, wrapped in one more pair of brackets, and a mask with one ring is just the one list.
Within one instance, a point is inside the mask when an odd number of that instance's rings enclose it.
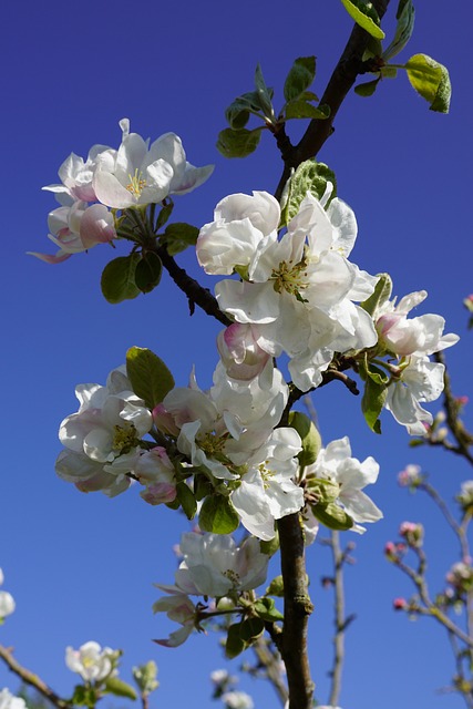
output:
{"label": "crinkled light green leaf directly above the large central blossoms", "polygon": [[337,179],[335,173],[323,163],[316,160],[307,160],[301,163],[294,175],[289,178],[285,188],[284,206],[281,208],[281,226],[285,226],[299,212],[300,204],[308,192],[312,193],[320,199],[327,187],[327,183],[331,182],[333,192],[330,201],[337,194]]}

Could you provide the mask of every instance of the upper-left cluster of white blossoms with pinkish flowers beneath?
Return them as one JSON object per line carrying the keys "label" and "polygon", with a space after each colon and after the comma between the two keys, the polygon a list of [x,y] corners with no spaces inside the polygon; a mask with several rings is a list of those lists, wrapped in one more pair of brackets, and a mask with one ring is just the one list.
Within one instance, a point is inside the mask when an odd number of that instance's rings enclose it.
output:
{"label": "upper-left cluster of white blossoms with pinkish flowers beneath", "polygon": [[94,145],[84,161],[71,155],[59,169],[60,184],[52,192],[60,207],[48,217],[49,238],[56,254],[38,254],[48,264],[59,264],[73,254],[117,237],[110,210],[158,204],[168,195],[185,194],[209,177],[213,166],[194,167],[186,161],[181,138],[165,133],[150,145],[130,133],[130,121],[120,121],[122,142],[117,150]]}

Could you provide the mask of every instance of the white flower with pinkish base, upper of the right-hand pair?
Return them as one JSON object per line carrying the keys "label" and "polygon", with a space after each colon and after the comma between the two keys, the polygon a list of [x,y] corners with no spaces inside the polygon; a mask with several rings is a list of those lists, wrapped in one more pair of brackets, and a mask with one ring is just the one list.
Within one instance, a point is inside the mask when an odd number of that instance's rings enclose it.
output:
{"label": "white flower with pinkish base, upper of the right-hand pair", "polygon": [[445,320],[440,315],[422,315],[408,319],[409,312],[426,298],[425,290],[419,290],[394,301],[384,304],[374,316],[380,341],[398,357],[425,357],[452,347],[459,341],[457,335],[443,335]]}

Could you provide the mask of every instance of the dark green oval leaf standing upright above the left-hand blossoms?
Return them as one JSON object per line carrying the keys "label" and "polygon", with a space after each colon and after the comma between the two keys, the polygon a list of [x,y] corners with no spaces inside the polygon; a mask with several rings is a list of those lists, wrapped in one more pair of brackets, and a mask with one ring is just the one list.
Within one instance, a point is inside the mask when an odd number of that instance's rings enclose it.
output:
{"label": "dark green oval leaf standing upright above the left-hand blossoms", "polygon": [[133,391],[151,410],[174,388],[173,374],[157,354],[142,347],[126,352],[126,373]]}

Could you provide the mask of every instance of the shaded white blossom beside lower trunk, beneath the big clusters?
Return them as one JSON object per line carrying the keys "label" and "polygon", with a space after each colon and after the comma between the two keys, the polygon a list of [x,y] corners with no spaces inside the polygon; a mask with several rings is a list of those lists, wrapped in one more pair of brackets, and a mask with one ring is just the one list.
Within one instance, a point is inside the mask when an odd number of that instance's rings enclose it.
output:
{"label": "shaded white blossom beside lower trunk, beneath the big clusters", "polygon": [[189,594],[219,598],[251,590],[266,580],[269,557],[261,554],[255,537],[237,546],[229,535],[189,532],[182,535],[179,548],[184,561],[176,572],[176,586]]}

